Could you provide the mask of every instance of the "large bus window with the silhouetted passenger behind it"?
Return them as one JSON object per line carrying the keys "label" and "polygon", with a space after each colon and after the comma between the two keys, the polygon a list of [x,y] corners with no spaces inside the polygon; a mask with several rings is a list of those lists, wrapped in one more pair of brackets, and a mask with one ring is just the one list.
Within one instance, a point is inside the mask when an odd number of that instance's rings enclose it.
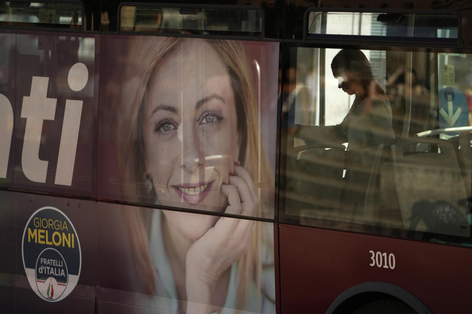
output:
{"label": "large bus window with the silhouetted passenger behind it", "polygon": [[469,237],[472,54],[289,53],[281,219],[431,240]]}

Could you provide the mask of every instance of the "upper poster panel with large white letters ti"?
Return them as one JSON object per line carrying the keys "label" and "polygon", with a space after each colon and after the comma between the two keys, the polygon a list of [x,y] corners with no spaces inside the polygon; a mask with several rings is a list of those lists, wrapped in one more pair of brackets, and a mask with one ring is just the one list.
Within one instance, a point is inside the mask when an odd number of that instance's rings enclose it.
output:
{"label": "upper poster panel with large white letters ti", "polygon": [[0,186],[95,196],[96,40],[0,33]]}

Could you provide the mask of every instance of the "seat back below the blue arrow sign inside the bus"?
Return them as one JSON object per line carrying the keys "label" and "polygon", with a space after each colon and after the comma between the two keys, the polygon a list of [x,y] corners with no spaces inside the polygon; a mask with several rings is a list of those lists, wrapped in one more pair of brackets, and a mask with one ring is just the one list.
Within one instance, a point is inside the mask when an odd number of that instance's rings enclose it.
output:
{"label": "seat back below the blue arrow sign inside the bus", "polygon": [[[391,147],[393,160],[393,179],[398,196],[404,228],[410,228],[413,220],[413,207],[419,202],[438,201],[456,205],[467,194],[462,180],[461,169],[457,162],[452,143],[436,138],[407,138],[399,140]],[[467,210],[459,208],[461,219],[451,219],[452,212],[436,212],[431,208],[431,215],[437,215],[444,221],[465,221]],[[442,209],[441,209],[442,210]],[[424,211],[423,211],[424,212]],[[426,230],[442,233],[434,226]],[[450,235],[468,236],[470,226],[454,226]]]}

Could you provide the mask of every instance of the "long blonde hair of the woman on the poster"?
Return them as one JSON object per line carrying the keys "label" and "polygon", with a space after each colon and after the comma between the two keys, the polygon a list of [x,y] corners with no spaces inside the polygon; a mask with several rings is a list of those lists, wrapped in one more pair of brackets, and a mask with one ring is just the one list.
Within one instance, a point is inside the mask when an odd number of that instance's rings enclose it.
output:
{"label": "long blonde hair of the woman on the poster", "polygon": [[[123,196],[127,201],[143,203],[143,198],[149,198],[144,184],[146,173],[144,163],[144,147],[141,139],[141,106],[151,79],[162,62],[187,41],[202,39],[176,37],[140,37],[133,41],[127,60],[132,61],[125,69],[125,77],[130,78],[123,88],[120,101],[120,119],[118,122],[118,155],[119,171],[123,180]],[[257,100],[251,79],[251,70],[243,47],[236,41],[210,40],[205,42],[211,45],[226,65],[232,79],[237,112],[237,131],[241,138],[239,147],[239,162],[251,175],[259,178],[255,182],[256,188],[263,188],[260,193],[259,205],[255,216],[264,215],[262,204],[269,204],[273,208],[273,176],[268,165],[264,146],[258,144],[259,121]],[[133,62],[134,61],[134,62]],[[260,151],[259,151],[260,150]],[[262,160],[259,160],[259,156]],[[259,169],[261,165],[262,169]],[[144,286],[149,294],[155,293],[155,282],[159,281],[154,270],[149,252],[148,227],[144,218],[144,210],[128,208],[124,210],[125,224],[129,232],[129,240],[133,250],[134,260]],[[254,282],[260,299],[261,290],[261,243],[269,244],[270,239],[261,230],[261,224],[255,223],[251,244],[247,252],[238,260],[238,281],[236,305],[243,308],[246,294]],[[157,285],[158,286],[158,285]]]}

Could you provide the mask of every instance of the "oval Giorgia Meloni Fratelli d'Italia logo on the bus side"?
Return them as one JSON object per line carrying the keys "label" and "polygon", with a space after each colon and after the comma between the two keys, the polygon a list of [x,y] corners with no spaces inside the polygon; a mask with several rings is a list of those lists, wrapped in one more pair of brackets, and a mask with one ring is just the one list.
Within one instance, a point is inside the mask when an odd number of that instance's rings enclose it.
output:
{"label": "oval Giorgia Meloni Fratelli d'Italia logo on the bus side", "polygon": [[29,217],[22,255],[29,285],[43,300],[60,301],[77,285],[82,264],[79,238],[59,209],[43,207]]}

